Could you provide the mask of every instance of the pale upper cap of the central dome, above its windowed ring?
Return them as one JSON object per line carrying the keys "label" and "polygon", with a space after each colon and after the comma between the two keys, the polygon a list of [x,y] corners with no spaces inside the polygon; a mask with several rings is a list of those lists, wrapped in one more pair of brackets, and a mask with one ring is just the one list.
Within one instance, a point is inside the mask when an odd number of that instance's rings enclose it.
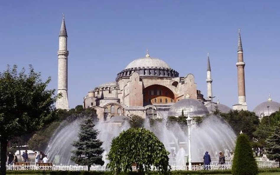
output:
{"label": "pale upper cap of the central dome, above its windowed ring", "polygon": [[131,61],[125,69],[129,68],[150,68],[150,67],[158,67],[158,68],[169,68],[170,66],[165,63],[163,60],[158,58],[150,57],[149,53],[146,54],[146,57],[138,58],[136,60]]}

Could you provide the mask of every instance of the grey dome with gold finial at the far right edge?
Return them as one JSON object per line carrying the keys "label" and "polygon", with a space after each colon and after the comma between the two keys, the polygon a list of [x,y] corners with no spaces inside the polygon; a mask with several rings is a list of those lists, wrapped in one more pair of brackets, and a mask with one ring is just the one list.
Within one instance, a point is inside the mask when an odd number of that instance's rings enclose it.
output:
{"label": "grey dome with gold finial at the far right edge", "polygon": [[256,106],[253,112],[255,112],[258,117],[262,118],[263,116],[268,116],[276,111],[279,111],[279,108],[280,103],[273,102],[269,95],[268,100]]}

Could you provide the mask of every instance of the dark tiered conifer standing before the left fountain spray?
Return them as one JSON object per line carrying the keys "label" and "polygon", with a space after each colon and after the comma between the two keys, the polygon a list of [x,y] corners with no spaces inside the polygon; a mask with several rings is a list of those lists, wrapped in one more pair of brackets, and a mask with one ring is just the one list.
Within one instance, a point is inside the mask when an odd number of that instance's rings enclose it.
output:
{"label": "dark tiered conifer standing before the left fountain spray", "polygon": [[103,165],[102,153],[103,148],[100,148],[103,142],[97,139],[98,131],[93,129],[95,126],[92,117],[86,117],[80,125],[79,140],[72,144],[76,150],[71,156],[71,160],[79,165],[87,165],[87,170],[91,165]]}

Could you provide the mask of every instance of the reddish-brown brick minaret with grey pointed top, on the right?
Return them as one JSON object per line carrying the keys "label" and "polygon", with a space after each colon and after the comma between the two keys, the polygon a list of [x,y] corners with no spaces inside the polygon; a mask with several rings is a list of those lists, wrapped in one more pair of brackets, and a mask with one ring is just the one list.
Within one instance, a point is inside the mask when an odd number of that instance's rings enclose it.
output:
{"label": "reddish-brown brick minaret with grey pointed top, on the right", "polygon": [[245,96],[245,76],[244,76],[244,67],[245,63],[243,62],[243,49],[241,43],[241,35],[239,29],[239,38],[238,38],[238,49],[237,49],[237,81],[238,81],[238,104],[233,106],[235,110],[247,110],[246,96]]}

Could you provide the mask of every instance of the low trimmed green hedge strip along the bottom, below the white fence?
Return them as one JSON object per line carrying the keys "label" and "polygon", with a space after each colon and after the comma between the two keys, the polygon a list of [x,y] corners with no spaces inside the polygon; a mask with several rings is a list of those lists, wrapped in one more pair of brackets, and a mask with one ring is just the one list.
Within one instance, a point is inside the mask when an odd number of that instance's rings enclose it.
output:
{"label": "low trimmed green hedge strip along the bottom, below the white fence", "polygon": [[[280,168],[259,169],[258,172],[280,172]],[[40,171],[40,170],[7,170],[6,174],[50,174],[50,175],[113,175],[110,171]],[[231,174],[231,170],[203,170],[203,171],[171,171],[171,175],[188,174]],[[118,173],[118,175],[140,175],[138,172]],[[150,175],[159,175],[158,171],[151,171]]]}

